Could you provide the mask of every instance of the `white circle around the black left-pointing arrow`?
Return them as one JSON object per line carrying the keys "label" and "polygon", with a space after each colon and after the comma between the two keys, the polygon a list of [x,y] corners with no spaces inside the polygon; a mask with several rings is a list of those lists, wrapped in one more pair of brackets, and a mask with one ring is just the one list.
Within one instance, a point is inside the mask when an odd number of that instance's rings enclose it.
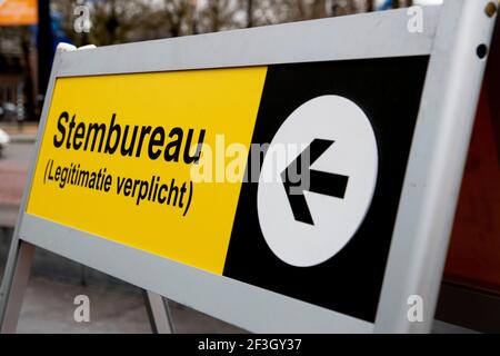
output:
{"label": "white circle around the black left-pointing arrow", "polygon": [[[314,139],[334,142],[310,169],[348,176],[349,180],[343,199],[304,189],[313,218],[310,225],[294,219],[281,172]],[[259,177],[259,224],[270,249],[297,267],[319,265],[333,257],[363,221],[377,172],[377,140],[361,108],[339,96],[318,97],[300,106],[272,139]]]}

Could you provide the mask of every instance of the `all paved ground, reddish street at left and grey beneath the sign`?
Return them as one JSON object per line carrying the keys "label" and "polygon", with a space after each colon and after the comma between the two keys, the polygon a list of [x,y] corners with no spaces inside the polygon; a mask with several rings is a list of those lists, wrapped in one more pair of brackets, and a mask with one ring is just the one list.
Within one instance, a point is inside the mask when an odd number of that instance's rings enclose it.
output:
{"label": "all paved ground, reddish street at left and grey beneath the sign", "polygon": [[[36,129],[28,126],[0,158],[0,278],[19,210],[19,202],[30,162]],[[90,323],[73,319],[77,295],[90,298]],[[178,333],[242,332],[190,308],[171,303]],[[150,325],[139,288],[94,269],[37,249],[28,285],[19,333],[150,333]]]}

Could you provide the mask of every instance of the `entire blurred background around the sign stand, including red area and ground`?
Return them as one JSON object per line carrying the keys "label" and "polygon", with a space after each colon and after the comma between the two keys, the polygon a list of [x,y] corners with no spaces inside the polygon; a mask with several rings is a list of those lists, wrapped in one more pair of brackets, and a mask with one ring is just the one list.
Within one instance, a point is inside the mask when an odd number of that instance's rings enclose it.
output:
{"label": "entire blurred background around the sign stand, including red area and ground", "polygon": [[[440,0],[0,0],[0,278],[59,42],[108,46],[386,11]],[[497,29],[436,332],[500,330],[500,44]],[[493,99],[497,98],[497,100]],[[497,182],[497,184],[494,184]],[[480,188],[478,188],[480,187]],[[167,276],[166,276],[167,278]],[[76,323],[87,295],[91,322]],[[238,333],[172,303],[177,332]],[[452,326],[453,324],[454,326]],[[20,333],[150,333],[142,290],[37,249]]]}

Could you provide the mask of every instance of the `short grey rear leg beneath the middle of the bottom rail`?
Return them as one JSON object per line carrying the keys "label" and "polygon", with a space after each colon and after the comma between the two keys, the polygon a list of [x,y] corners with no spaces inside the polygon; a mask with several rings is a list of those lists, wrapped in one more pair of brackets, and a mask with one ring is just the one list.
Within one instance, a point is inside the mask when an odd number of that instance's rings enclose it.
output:
{"label": "short grey rear leg beneath the middle of the bottom rail", "polygon": [[142,290],[146,309],[153,334],[174,334],[172,315],[170,313],[169,300],[159,294]]}

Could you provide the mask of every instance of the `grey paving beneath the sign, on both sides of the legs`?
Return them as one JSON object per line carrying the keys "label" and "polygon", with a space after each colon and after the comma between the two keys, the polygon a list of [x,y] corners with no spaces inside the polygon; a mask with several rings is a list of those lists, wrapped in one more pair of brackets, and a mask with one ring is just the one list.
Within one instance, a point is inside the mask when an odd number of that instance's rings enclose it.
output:
{"label": "grey paving beneath the sign, on both sides of the legs", "polygon": [[[0,229],[0,278],[10,234]],[[73,319],[74,297],[90,299],[90,323]],[[177,333],[241,333],[207,315],[170,303]],[[37,249],[28,284],[19,333],[150,333],[139,288],[67,258]]]}

